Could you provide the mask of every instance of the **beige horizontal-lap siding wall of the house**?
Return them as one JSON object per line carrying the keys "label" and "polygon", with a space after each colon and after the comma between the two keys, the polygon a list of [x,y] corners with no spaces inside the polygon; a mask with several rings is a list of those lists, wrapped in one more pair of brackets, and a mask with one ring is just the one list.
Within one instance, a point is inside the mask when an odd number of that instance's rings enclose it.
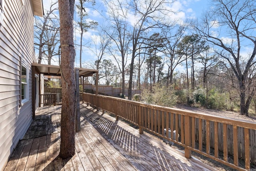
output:
{"label": "beige horizontal-lap siding wall of the house", "polygon": [[[33,7],[4,0],[0,26],[0,170],[32,122]],[[20,106],[20,61],[28,66],[28,101]],[[34,78],[34,77],[33,77]]]}

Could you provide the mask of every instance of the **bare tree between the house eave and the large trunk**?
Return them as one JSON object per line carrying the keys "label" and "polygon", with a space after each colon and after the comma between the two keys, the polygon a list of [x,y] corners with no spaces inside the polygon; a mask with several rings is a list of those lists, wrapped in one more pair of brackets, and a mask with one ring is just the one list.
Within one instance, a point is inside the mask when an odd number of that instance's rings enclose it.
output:
{"label": "bare tree between the house eave and the large trunk", "polygon": [[[54,12],[58,10],[58,6],[56,7],[57,3],[58,1],[51,3],[50,10],[47,11],[46,15],[44,15],[43,18],[36,17],[35,19],[34,38],[36,39],[36,41],[34,44],[36,45],[35,48],[38,49],[38,64],[41,64],[43,54],[46,51],[48,52],[49,46],[51,46],[52,44],[54,44],[53,42],[55,42],[53,38],[46,36],[52,35],[51,32],[58,32],[58,26],[54,24],[58,23],[56,22],[57,17],[54,15]],[[51,40],[49,42],[50,38]],[[47,48],[45,48],[46,50],[43,49],[45,45],[47,46]],[[51,48],[53,48],[53,46]],[[51,52],[53,51],[54,50],[51,50]]]}

